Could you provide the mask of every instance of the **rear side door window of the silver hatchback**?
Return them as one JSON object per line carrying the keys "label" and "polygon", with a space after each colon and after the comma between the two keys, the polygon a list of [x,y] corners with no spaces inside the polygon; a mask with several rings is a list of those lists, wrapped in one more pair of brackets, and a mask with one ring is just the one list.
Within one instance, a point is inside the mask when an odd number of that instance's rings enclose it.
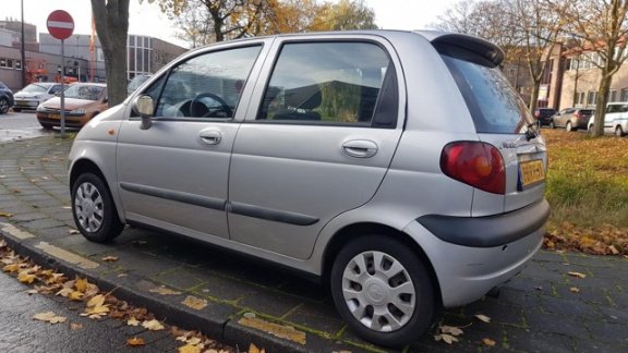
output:
{"label": "rear side door window of the silver hatchback", "polygon": [[390,58],[372,42],[286,44],[256,119],[370,126],[394,75]]}

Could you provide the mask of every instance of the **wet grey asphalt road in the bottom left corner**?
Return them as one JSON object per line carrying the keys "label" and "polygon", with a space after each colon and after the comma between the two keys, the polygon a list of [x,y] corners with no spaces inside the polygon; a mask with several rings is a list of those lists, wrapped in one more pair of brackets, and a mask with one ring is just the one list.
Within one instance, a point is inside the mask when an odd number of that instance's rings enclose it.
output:
{"label": "wet grey asphalt road in the bottom left corner", "polygon": [[[27,294],[31,288],[0,271],[0,352],[177,352],[181,342],[166,330],[147,331],[122,320],[81,317],[84,303],[51,295]],[[35,320],[39,313],[53,312],[65,322]],[[126,340],[141,337],[144,346]]]}

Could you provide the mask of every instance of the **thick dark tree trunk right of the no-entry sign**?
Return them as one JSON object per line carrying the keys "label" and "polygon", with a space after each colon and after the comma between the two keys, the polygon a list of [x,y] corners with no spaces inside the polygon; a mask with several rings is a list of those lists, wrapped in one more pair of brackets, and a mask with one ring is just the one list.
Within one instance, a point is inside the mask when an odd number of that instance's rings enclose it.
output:
{"label": "thick dark tree trunk right of the no-entry sign", "polygon": [[129,0],[92,0],[96,33],[105,56],[109,106],[126,98]]}

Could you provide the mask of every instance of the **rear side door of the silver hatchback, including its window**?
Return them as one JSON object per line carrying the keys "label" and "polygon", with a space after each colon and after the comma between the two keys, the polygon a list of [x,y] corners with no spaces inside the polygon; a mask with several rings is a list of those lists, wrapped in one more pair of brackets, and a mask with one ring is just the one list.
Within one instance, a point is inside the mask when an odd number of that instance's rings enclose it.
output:
{"label": "rear side door of the silver hatchback, including its window", "polygon": [[[354,38],[353,38],[354,39]],[[235,138],[231,239],[307,258],[323,227],[375,194],[404,95],[385,42],[279,39]]]}

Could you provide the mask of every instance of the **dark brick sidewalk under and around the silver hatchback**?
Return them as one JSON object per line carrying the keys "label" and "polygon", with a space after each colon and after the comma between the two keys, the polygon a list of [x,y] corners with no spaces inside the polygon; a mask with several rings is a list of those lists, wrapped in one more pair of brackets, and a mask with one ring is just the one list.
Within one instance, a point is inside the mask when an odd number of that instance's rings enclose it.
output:
{"label": "dark brick sidewalk under and around the silver hatchback", "polygon": [[[19,253],[88,276],[170,324],[200,329],[241,350],[253,342],[267,352],[385,351],[346,329],[324,288],[276,267],[138,229],[125,229],[109,245],[71,234],[70,145],[55,136],[0,145],[0,212],[12,214],[0,216],[0,235]],[[109,255],[119,260],[101,260]],[[150,292],[160,285],[180,294]],[[182,304],[189,296],[206,306]],[[475,314],[492,321],[482,322]],[[541,252],[499,299],[447,311],[443,324],[462,327],[460,342],[447,345],[430,334],[408,351],[626,352],[628,260]],[[291,339],[278,338],[278,331]],[[485,338],[496,345],[483,346]]]}

